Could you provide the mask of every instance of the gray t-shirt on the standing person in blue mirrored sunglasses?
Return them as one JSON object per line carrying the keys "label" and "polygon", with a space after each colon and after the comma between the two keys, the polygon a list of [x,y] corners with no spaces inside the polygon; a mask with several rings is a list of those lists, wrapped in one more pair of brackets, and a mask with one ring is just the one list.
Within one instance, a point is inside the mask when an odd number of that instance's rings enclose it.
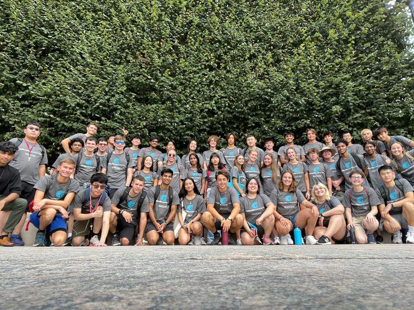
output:
{"label": "gray t-shirt on the standing person in blue mirrored sunglasses", "polygon": [[134,167],[134,161],[129,160],[127,164],[127,158],[125,153],[115,154],[112,153],[109,159],[109,163],[104,163],[103,168],[107,169],[108,185],[111,189],[120,189],[125,187],[127,181],[128,168]]}

